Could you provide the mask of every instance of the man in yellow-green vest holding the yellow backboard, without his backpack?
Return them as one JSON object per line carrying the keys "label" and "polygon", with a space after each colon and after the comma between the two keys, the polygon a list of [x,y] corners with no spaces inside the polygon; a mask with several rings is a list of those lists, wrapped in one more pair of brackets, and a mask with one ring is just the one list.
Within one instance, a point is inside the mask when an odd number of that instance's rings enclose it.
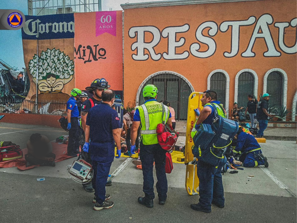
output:
{"label": "man in yellow-green vest holding the yellow backboard, without his backpack", "polygon": [[[215,91],[207,90],[203,92],[201,103],[203,105],[201,113],[198,109],[195,109],[198,119],[195,129],[191,135],[193,135],[193,133],[199,129],[201,123],[210,125],[213,123],[214,107],[211,105],[211,103],[213,103],[217,109],[218,115],[226,118],[225,110],[220,105],[220,102],[217,101],[217,93]],[[217,166],[212,166],[198,159],[197,175],[199,178],[199,203],[191,204],[191,208],[193,210],[210,213],[211,203],[217,205],[219,208],[224,208],[225,198],[221,170],[222,166],[226,162],[227,160],[224,158],[223,160],[219,161]]]}

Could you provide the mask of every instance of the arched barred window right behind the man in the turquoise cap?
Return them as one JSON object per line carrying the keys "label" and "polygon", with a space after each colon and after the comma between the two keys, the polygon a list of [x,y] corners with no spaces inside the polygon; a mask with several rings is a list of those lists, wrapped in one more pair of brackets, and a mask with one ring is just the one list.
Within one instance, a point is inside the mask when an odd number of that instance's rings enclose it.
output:
{"label": "arched barred window right behind the man in the turquoise cap", "polygon": [[272,71],[267,77],[267,90],[266,92],[271,95],[269,104],[271,106],[283,105],[283,76],[278,71]]}

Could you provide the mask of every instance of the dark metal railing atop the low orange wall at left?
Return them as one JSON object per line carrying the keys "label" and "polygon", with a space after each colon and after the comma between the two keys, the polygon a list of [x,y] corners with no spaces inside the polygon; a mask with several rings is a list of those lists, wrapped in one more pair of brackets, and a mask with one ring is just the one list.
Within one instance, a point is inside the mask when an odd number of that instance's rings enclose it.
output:
{"label": "dark metal railing atop the low orange wall at left", "polygon": [[66,115],[66,101],[39,100],[36,106],[33,100],[23,100],[22,103],[15,103],[14,100],[0,99],[0,113]]}

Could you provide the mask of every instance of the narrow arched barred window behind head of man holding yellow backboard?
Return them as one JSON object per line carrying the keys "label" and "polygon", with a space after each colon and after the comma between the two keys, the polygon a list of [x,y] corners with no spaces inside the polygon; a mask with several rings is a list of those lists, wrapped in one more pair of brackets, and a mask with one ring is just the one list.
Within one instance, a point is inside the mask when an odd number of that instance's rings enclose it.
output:
{"label": "narrow arched barred window behind head of man holding yellow backboard", "polygon": [[210,78],[210,89],[217,92],[217,100],[225,105],[226,101],[226,77],[221,72],[214,73]]}

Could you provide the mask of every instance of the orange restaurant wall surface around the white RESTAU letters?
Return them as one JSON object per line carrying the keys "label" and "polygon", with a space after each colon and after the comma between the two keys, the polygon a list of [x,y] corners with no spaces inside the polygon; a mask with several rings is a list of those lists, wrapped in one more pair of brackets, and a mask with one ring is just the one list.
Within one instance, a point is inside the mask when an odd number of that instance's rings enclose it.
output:
{"label": "orange restaurant wall surface around the white RESTAU letters", "polygon": [[[225,70],[230,77],[229,108],[234,102],[234,84],[235,76],[242,69],[252,69],[258,76],[258,95],[263,92],[263,76],[272,68],[281,68],[287,73],[287,107],[292,107],[292,100],[296,92],[296,54],[286,54],[279,49],[278,28],[273,24],[269,25],[277,51],[282,55],[280,57],[264,57],[263,53],[267,51],[264,39],[257,39],[252,49],[255,57],[241,57],[249,44],[255,24],[242,26],[240,28],[239,52],[235,57],[225,58],[223,53],[230,52],[231,48],[231,30],[218,33],[212,37],[217,44],[215,54],[209,58],[197,58],[191,53],[187,59],[183,60],[165,60],[153,61],[151,57],[146,61],[135,61],[132,54],[136,50],[131,50],[131,45],[136,42],[137,37],[130,38],[128,31],[133,26],[156,26],[160,31],[168,26],[182,26],[185,23],[190,25],[190,29],[185,33],[178,33],[176,39],[185,37],[186,42],[183,46],[176,48],[176,53],[189,51],[192,43],[198,43],[195,38],[195,32],[198,26],[205,21],[214,21],[218,26],[223,21],[247,20],[250,16],[257,19],[269,13],[273,16],[274,22],[290,22],[296,18],[296,0],[262,0],[245,2],[225,2],[196,5],[180,5],[167,7],[151,7],[126,9],[124,12],[124,101],[125,105],[129,101],[135,102],[138,87],[149,75],[169,70],[185,76],[193,85],[195,91],[204,91],[207,88],[207,77],[216,69]],[[207,35],[208,29],[203,34]],[[286,28],[285,43],[287,46],[293,46],[296,41],[296,28]],[[146,42],[152,40],[151,34],[146,34]],[[168,38],[161,37],[160,43],[154,48],[156,53],[167,52]],[[205,44],[201,44],[200,51],[207,50]],[[145,53],[148,53],[145,50]]]}

